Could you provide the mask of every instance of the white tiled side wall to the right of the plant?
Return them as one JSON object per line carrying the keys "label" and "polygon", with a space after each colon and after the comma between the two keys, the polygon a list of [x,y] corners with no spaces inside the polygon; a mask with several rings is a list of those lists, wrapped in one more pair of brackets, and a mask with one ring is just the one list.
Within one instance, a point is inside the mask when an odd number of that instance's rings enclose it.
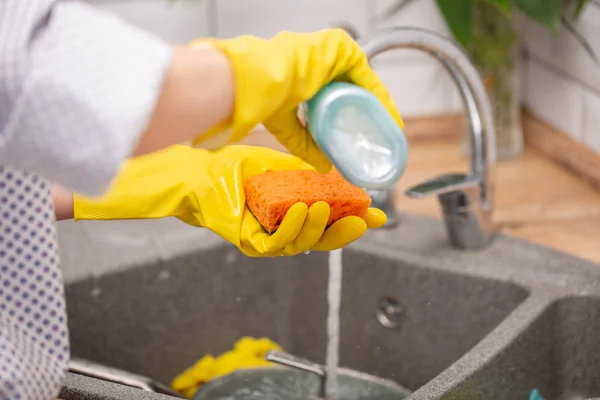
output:
{"label": "white tiled side wall to the right of the plant", "polygon": [[[577,30],[600,56],[600,5],[589,3]],[[526,105],[554,127],[600,154],[600,66],[567,31],[554,35],[530,21],[523,24],[530,53]]]}

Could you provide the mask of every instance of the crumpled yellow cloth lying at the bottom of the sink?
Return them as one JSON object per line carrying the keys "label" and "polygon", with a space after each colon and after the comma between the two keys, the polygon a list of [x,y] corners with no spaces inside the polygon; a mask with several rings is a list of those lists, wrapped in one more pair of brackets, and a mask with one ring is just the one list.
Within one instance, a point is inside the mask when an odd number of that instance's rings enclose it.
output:
{"label": "crumpled yellow cloth lying at the bottom of the sink", "polygon": [[241,368],[271,365],[272,363],[265,360],[270,350],[283,349],[267,338],[243,337],[235,343],[233,350],[217,358],[211,355],[202,357],[196,364],[176,376],[171,387],[186,398],[191,398],[201,385],[215,378]]}

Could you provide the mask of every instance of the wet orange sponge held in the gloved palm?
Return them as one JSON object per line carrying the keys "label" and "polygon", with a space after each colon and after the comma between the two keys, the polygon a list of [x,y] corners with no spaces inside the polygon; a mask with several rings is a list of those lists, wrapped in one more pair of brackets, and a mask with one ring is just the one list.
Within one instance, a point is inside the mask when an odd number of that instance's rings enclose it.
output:
{"label": "wet orange sponge held in the gloved palm", "polygon": [[252,176],[244,183],[246,204],[258,222],[273,233],[286,212],[295,203],[311,206],[318,201],[329,204],[327,225],[355,215],[365,218],[371,198],[363,189],[352,185],[337,171],[268,171]]}

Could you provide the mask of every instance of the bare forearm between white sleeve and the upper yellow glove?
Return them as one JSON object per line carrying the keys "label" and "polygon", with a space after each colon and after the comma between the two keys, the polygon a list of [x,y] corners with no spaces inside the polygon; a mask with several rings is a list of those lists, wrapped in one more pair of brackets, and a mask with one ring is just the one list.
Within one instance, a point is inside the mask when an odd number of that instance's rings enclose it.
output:
{"label": "bare forearm between white sleeve and the upper yellow glove", "polygon": [[216,48],[176,47],[149,124],[134,155],[192,140],[233,112],[234,80]]}

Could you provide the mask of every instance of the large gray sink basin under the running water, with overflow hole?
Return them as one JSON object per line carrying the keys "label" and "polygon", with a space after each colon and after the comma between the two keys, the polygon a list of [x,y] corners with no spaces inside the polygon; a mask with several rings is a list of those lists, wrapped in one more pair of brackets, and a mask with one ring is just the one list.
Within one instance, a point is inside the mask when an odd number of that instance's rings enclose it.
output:
{"label": "large gray sink basin under the running water, with overflow hole", "polygon": [[[343,263],[341,363],[409,389],[465,354],[527,296],[511,283],[354,249]],[[83,280],[67,288],[73,353],[164,382],[246,335],[322,363],[327,274],[326,254],[265,260],[222,246]],[[402,308],[397,328],[379,322],[384,298]]]}

